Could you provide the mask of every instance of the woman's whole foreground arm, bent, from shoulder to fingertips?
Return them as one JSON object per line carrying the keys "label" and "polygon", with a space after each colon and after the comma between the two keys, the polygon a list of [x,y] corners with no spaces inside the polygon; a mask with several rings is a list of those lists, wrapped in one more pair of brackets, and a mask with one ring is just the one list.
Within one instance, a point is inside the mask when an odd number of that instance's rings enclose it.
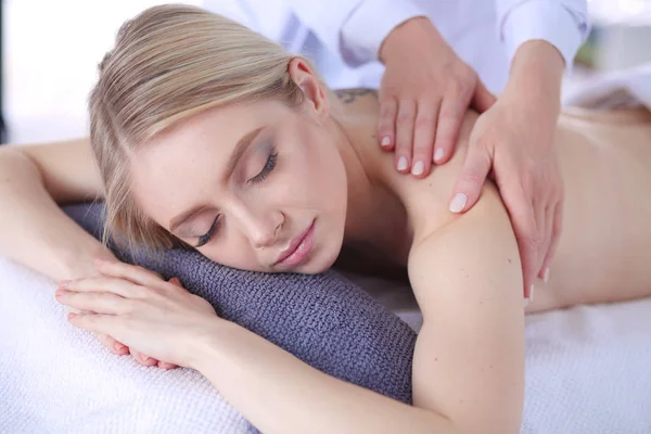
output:
{"label": "woman's whole foreground arm, bent, from shoulder to fingertips", "polygon": [[101,279],[71,282],[59,301],[99,314],[72,318],[77,327],[199,370],[263,432],[518,432],[522,277],[495,189],[487,187],[472,210],[420,240],[409,266],[425,315],[413,367],[414,406],[309,367],[208,315],[195,296],[138,267],[100,264]]}

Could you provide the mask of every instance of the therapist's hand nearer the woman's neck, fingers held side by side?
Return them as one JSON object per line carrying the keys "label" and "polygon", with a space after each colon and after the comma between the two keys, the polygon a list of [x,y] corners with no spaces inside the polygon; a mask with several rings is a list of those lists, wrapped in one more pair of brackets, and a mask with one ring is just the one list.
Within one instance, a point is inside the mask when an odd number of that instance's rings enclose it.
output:
{"label": "therapist's hand nearer the woman's neck, fingers held side by side", "polygon": [[429,18],[411,18],[393,29],[379,54],[386,71],[378,141],[383,150],[395,150],[398,171],[425,177],[432,163],[452,155],[469,105],[484,112],[495,97]]}

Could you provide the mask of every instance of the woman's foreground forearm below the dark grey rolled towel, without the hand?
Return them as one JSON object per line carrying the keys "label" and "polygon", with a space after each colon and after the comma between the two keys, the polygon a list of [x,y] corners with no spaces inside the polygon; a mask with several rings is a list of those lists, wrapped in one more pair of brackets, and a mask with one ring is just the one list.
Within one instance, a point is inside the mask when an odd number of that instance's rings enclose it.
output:
{"label": "woman's foreground forearm below the dark grey rolled towel, without the hand", "polygon": [[215,320],[190,366],[265,433],[451,432],[447,419],[309,367],[263,337]]}

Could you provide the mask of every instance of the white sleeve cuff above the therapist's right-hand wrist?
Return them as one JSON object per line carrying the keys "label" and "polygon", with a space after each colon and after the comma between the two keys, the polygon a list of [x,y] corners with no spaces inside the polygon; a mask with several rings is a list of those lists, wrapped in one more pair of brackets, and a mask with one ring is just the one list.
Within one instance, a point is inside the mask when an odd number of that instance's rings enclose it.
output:
{"label": "white sleeve cuff above the therapist's right-hand wrist", "polygon": [[590,31],[586,0],[496,0],[499,34],[509,64],[527,40],[554,46],[572,68],[574,56]]}

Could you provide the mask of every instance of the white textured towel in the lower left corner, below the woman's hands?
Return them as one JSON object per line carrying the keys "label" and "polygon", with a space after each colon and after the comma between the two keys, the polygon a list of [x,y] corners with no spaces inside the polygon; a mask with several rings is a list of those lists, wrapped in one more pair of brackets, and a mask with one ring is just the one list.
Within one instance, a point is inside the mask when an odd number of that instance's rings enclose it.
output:
{"label": "white textured towel in the lower left corner, below the woman's hands", "polygon": [[75,329],[56,285],[0,257],[0,433],[242,433],[199,372],[144,368]]}

